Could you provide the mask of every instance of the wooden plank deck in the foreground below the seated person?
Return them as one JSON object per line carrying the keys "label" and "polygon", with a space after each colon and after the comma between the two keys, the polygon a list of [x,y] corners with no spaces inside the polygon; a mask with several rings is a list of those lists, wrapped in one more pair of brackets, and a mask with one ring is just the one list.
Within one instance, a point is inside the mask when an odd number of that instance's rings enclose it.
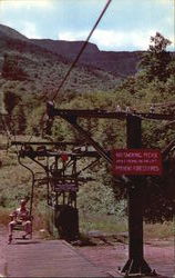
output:
{"label": "wooden plank deck in the foreground below the seated person", "polygon": [[112,277],[64,240],[18,240],[7,248],[6,277]]}

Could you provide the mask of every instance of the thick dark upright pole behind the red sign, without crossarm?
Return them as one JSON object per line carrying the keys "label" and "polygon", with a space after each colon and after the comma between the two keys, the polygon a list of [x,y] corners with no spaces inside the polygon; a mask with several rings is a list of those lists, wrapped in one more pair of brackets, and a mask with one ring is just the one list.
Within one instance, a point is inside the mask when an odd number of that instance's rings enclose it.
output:
{"label": "thick dark upright pole behind the red sign, without crossarm", "polygon": [[[142,147],[141,118],[127,116],[126,132],[127,148]],[[128,260],[122,269],[126,275],[152,274],[152,269],[144,260],[143,251],[143,185],[142,178],[130,177],[131,185],[127,191],[128,198]]]}

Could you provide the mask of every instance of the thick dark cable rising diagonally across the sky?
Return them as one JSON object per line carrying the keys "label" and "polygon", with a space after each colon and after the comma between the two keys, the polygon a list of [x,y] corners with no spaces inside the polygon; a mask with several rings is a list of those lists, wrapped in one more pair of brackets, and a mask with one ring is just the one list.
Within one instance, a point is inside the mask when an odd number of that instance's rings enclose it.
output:
{"label": "thick dark cable rising diagonally across the sky", "polygon": [[90,40],[90,38],[91,38],[91,36],[92,36],[92,33],[93,33],[94,30],[96,29],[99,22],[101,21],[103,14],[105,13],[105,11],[106,11],[106,9],[109,8],[109,6],[110,6],[111,2],[112,2],[112,0],[109,0],[109,1],[106,2],[105,7],[103,8],[103,10],[102,10],[100,17],[97,18],[97,20],[96,20],[94,27],[92,28],[90,34],[87,36],[86,40],[84,41],[84,43],[83,43],[83,46],[82,46],[80,52],[78,53],[75,60],[74,60],[73,63],[71,64],[70,69],[68,70],[68,72],[66,72],[66,75],[65,75],[65,77],[63,78],[62,82],[60,83],[59,88],[56,89],[56,92],[55,92],[54,96],[52,97],[52,99],[51,99],[52,101],[58,97],[59,91],[61,90],[61,88],[63,87],[65,80],[68,79],[69,75],[71,73],[72,69],[74,68],[74,66],[75,66],[76,62],[79,61],[81,54],[83,53],[83,51],[84,51],[84,49],[85,49],[85,47],[86,47],[86,44],[87,44],[87,42],[89,42],[89,40]]}

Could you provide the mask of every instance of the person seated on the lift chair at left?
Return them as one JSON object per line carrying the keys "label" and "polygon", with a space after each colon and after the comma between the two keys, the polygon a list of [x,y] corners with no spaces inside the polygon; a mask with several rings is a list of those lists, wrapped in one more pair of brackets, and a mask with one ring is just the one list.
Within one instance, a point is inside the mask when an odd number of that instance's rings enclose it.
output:
{"label": "person seated on the lift chair at left", "polygon": [[12,240],[12,231],[16,225],[22,225],[23,230],[25,235],[23,235],[23,239],[32,234],[32,224],[31,224],[31,217],[29,214],[29,210],[25,207],[27,200],[21,200],[20,201],[20,208],[16,209],[10,217],[12,218],[12,221],[9,224],[9,244]]}

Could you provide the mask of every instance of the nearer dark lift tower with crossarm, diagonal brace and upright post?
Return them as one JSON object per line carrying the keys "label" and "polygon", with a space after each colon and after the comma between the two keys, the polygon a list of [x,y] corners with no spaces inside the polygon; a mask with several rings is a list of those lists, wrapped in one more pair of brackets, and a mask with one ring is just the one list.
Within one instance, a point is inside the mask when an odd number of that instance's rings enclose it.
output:
{"label": "nearer dark lift tower with crossarm, diagonal brace and upright post", "polygon": [[[79,123],[78,118],[104,118],[126,121],[126,146],[130,149],[142,148],[142,120],[175,120],[174,115],[162,113],[140,113],[140,112],[110,112],[106,110],[71,110],[56,109],[52,102],[48,102],[47,112],[50,122],[54,117],[60,116],[78,130],[84,139],[90,142],[97,153],[112,165],[111,153],[106,152],[103,147],[95,142],[87,131]],[[143,186],[142,177],[130,177],[131,186],[127,190],[128,199],[128,260],[122,269],[125,275],[153,275],[148,264],[144,259],[143,248]]]}

